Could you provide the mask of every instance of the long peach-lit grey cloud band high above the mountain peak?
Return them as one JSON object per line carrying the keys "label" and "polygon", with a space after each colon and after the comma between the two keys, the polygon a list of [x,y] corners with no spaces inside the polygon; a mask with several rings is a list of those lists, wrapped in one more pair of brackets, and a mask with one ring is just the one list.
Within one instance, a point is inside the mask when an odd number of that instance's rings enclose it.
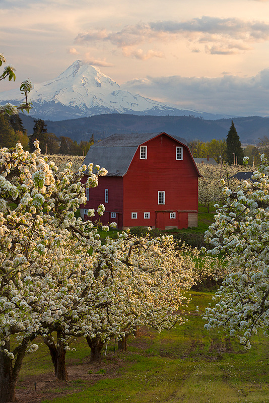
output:
{"label": "long peach-lit grey cloud band high above the mountain peak", "polygon": [[[235,54],[251,50],[251,44],[269,40],[269,23],[239,18],[201,17],[188,21],[157,21],[126,25],[119,31],[80,33],[75,43],[110,42],[121,49],[153,41],[187,40],[211,54]],[[200,49],[195,47],[194,51]],[[129,52],[133,55],[134,52]],[[159,57],[159,56],[158,56]]]}

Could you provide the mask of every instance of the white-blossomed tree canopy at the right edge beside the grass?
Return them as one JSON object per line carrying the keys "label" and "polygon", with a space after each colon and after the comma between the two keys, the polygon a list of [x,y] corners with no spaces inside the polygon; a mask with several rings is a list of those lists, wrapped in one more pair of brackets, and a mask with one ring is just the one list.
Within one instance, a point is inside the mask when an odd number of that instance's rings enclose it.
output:
{"label": "white-blossomed tree canopy at the right edge beside the grass", "polygon": [[259,328],[269,325],[269,169],[266,159],[236,190],[224,188],[225,203],[206,232],[208,252],[225,256],[227,274],[207,308],[208,329],[224,326],[245,348]]}

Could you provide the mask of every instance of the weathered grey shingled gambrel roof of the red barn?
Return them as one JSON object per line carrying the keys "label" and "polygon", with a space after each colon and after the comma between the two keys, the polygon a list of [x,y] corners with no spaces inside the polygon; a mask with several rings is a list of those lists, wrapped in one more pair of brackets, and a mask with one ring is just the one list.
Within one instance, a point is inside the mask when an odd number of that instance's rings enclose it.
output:
{"label": "weathered grey shingled gambrel roof of the red barn", "polygon": [[127,172],[138,147],[161,133],[163,131],[109,136],[91,146],[83,164],[89,165],[92,162],[94,165],[105,167],[109,176],[123,176]]}

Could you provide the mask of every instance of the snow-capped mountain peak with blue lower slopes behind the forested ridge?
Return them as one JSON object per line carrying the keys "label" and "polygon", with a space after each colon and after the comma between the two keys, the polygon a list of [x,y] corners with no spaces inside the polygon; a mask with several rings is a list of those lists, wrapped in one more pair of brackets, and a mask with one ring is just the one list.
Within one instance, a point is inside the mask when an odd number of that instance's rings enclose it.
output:
{"label": "snow-capped mountain peak with blue lower slopes behind the forested ridge", "polygon": [[[224,117],[205,112],[177,109],[173,106],[131,94],[92,65],[75,61],[53,80],[34,84],[29,94],[30,114],[49,120],[65,120],[107,113],[141,115],[193,115],[206,119]],[[19,90],[0,93],[0,104],[22,102]]]}

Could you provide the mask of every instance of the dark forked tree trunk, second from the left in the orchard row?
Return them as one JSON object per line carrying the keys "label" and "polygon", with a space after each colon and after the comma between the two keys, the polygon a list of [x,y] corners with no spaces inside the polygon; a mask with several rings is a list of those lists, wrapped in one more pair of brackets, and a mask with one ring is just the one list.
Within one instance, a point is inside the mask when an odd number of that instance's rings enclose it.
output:
{"label": "dark forked tree trunk, second from the left in the orchard row", "polygon": [[65,343],[63,341],[64,333],[61,329],[57,330],[57,346],[52,341],[51,336],[44,338],[44,343],[48,346],[51,360],[54,365],[55,376],[61,381],[68,381],[68,373],[65,367]]}

